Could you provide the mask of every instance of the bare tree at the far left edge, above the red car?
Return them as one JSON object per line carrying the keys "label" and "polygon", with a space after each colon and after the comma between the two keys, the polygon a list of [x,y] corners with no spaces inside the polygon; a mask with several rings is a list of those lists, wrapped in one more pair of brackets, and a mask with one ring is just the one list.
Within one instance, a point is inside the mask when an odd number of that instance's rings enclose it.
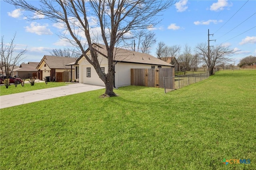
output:
{"label": "bare tree at the far left edge, above the red car", "polygon": [[26,53],[26,49],[20,50],[20,52],[16,53],[16,45],[14,44],[16,33],[11,39],[10,43],[4,43],[4,36],[1,37],[1,63],[0,69],[6,75],[6,79],[11,75],[14,66],[18,65],[18,63],[24,59],[23,55]]}

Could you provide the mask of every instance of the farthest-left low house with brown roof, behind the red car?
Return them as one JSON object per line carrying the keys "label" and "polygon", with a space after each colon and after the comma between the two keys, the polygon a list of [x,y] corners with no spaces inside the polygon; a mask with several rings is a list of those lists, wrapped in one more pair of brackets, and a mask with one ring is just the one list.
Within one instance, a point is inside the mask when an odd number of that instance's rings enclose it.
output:
{"label": "farthest-left low house with brown roof, behind the red car", "polygon": [[27,64],[22,63],[20,67],[12,71],[12,75],[20,78],[37,77],[37,69],[39,62],[28,62]]}

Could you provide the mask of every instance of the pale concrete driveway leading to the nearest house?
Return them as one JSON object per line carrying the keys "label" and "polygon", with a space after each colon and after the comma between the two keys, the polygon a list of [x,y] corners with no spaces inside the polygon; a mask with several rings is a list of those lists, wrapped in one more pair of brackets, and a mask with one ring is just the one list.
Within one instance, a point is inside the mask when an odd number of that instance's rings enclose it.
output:
{"label": "pale concrete driveway leading to the nearest house", "polygon": [[0,109],[98,89],[105,89],[105,87],[74,83],[60,87],[4,95],[0,96]]}

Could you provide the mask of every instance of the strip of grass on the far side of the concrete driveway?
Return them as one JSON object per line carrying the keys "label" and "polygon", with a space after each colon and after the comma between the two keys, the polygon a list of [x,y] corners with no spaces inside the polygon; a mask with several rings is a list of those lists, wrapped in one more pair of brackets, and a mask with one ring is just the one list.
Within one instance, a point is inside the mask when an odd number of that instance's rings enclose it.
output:
{"label": "strip of grass on the far side of the concrete driveway", "polygon": [[10,95],[14,93],[21,93],[21,92],[26,92],[26,91],[32,91],[32,90],[39,90],[39,89],[46,89],[50,87],[59,87],[59,86],[64,86],[66,83],[56,83],[56,82],[48,82],[46,83],[35,83],[33,86],[30,85],[30,83],[25,83],[24,87],[22,85],[10,85],[8,89],[4,85],[0,86],[0,96],[2,95]]}

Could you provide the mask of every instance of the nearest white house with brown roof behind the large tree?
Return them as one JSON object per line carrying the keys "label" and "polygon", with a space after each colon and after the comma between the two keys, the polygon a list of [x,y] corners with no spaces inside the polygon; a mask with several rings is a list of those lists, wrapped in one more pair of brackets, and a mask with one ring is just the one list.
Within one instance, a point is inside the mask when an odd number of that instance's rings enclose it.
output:
{"label": "nearest white house with brown roof behind the large tree", "polygon": [[[98,53],[98,61],[104,73],[108,72],[108,59],[105,45],[93,44],[94,50]],[[89,49],[86,54],[90,57]],[[129,51],[121,48],[114,48],[114,87],[131,85],[131,69],[134,68],[170,68],[173,65],[166,63],[152,55]],[[99,78],[94,67],[82,55],[77,59],[79,65],[79,83],[102,85],[104,82]]]}

